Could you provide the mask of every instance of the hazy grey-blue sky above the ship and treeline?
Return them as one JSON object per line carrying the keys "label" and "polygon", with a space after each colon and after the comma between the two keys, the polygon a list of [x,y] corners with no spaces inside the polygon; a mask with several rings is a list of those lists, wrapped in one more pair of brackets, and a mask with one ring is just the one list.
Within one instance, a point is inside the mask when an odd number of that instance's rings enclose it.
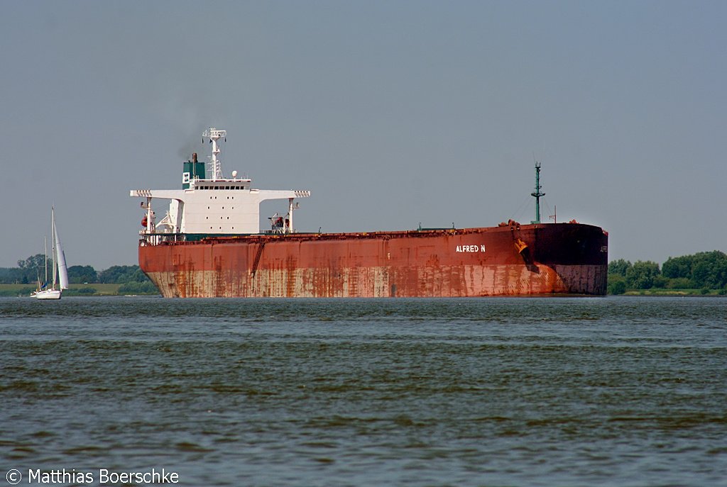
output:
{"label": "hazy grey-blue sky above the ship and treeline", "polygon": [[299,231],[529,222],[535,157],[611,260],[727,250],[725,1],[1,7],[0,266],[52,204],[69,266],[137,263],[129,189],[180,187],[206,126],[225,174],[310,189]]}

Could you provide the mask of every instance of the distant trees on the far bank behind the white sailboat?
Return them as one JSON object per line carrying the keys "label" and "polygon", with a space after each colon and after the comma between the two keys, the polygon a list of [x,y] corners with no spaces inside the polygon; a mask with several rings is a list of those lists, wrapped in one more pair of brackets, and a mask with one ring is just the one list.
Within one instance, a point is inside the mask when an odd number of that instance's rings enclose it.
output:
{"label": "distant trees on the far bank behind the white sailboat", "polygon": [[[48,262],[50,266],[50,261]],[[50,274],[50,269],[49,269]],[[25,261],[17,261],[17,267],[0,267],[0,284],[33,284],[45,278],[45,256],[32,255]],[[151,281],[139,266],[111,266],[104,271],[96,271],[92,266],[68,267],[70,284],[132,284]]]}

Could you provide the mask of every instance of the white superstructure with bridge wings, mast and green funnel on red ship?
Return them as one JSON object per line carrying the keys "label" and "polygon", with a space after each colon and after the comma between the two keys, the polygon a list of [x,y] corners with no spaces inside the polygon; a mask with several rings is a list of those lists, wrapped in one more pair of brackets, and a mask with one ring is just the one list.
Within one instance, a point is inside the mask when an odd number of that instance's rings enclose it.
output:
{"label": "white superstructure with bridge wings, mast and green funnel on red ship", "polygon": [[[182,175],[183,189],[133,189],[132,197],[143,197],[142,208],[146,210],[145,229],[141,234],[258,234],[260,233],[260,202],[265,200],[288,200],[288,215],[281,219],[281,226],[273,229],[281,233],[294,232],[293,210],[295,198],[309,197],[310,191],[253,189],[252,179],[222,177],[220,139],[226,131],[207,129],[203,137],[212,143],[212,179],[198,176],[204,174],[204,165],[196,160],[185,163]],[[201,167],[201,171],[193,168]],[[192,168],[186,171],[187,168]],[[161,220],[156,221],[152,210],[153,199],[169,200],[169,209]],[[273,222],[274,224],[275,222]]]}

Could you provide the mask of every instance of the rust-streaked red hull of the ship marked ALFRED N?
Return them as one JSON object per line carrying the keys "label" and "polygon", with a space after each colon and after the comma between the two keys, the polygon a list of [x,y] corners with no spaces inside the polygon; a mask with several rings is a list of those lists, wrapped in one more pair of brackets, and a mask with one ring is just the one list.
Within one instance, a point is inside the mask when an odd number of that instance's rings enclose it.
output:
{"label": "rust-streaked red hull of the ship marked ALFRED N", "polygon": [[605,295],[608,234],[532,224],[142,241],[139,265],[167,298]]}

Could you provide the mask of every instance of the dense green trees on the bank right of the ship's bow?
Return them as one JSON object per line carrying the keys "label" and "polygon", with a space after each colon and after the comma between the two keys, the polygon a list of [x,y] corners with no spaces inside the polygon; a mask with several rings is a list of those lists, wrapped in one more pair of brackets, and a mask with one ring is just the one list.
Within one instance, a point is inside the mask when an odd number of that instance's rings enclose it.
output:
{"label": "dense green trees on the bank right of the ship's bow", "polygon": [[612,261],[608,264],[608,294],[627,290],[718,290],[727,294],[727,254],[719,250],[670,257],[659,268],[653,261]]}

